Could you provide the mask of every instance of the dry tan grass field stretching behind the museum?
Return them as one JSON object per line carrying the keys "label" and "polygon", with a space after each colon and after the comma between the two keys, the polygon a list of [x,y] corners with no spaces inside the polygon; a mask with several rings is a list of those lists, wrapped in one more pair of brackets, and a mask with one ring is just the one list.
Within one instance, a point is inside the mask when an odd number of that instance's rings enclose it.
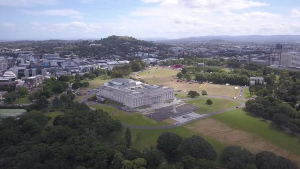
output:
{"label": "dry tan grass field stretching behind the museum", "polygon": [[172,69],[153,68],[150,73],[143,72],[140,74],[140,76],[142,77],[143,80],[145,80],[149,84],[159,84],[163,86],[169,86],[169,87],[173,87],[175,90],[183,90],[183,91],[195,90],[199,93],[201,93],[202,90],[205,90],[210,95],[237,97],[241,90],[240,87],[239,89],[235,90],[233,85],[225,86],[221,84],[208,84],[208,83],[205,84],[178,83],[176,82],[177,80],[174,79],[174,77],[178,72],[179,71],[172,70]]}

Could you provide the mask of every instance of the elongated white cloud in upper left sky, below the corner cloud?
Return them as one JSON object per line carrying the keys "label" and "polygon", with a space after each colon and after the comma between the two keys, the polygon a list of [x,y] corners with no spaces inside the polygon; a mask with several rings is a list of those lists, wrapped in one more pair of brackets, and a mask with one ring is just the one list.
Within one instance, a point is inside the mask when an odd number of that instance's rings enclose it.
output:
{"label": "elongated white cloud in upper left sky, below the corner cloud", "polygon": [[24,10],[29,15],[48,15],[48,16],[70,16],[72,18],[83,18],[82,14],[74,9],[51,9],[51,10]]}

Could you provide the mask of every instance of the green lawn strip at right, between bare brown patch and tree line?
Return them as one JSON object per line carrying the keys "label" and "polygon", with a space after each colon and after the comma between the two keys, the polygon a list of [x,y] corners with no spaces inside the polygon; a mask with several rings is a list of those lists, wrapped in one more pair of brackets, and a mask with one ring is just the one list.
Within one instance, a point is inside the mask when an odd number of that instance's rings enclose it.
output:
{"label": "green lawn strip at right, between bare brown patch and tree line", "polygon": [[230,127],[257,134],[274,145],[300,155],[300,141],[298,137],[277,129],[271,123],[262,122],[261,118],[253,117],[242,109],[214,115],[211,118],[221,121]]}

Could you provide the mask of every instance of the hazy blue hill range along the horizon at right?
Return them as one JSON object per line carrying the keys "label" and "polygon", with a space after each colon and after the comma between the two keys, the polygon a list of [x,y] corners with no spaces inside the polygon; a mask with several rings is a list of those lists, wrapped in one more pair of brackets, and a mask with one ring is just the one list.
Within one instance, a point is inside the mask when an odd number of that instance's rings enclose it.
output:
{"label": "hazy blue hill range along the horizon at right", "polygon": [[211,41],[211,40],[225,40],[233,42],[300,42],[300,35],[245,35],[245,36],[201,36],[189,37],[169,41],[181,42],[197,42],[197,41]]}

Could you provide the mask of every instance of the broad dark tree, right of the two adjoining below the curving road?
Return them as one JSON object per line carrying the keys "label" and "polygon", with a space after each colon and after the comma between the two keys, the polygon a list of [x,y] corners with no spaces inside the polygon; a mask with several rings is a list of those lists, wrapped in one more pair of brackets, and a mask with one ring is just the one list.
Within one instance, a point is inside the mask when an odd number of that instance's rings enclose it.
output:
{"label": "broad dark tree, right of the two adjoining below the curving road", "polygon": [[198,135],[184,138],[178,150],[183,156],[190,155],[196,159],[215,160],[217,158],[213,146]]}

